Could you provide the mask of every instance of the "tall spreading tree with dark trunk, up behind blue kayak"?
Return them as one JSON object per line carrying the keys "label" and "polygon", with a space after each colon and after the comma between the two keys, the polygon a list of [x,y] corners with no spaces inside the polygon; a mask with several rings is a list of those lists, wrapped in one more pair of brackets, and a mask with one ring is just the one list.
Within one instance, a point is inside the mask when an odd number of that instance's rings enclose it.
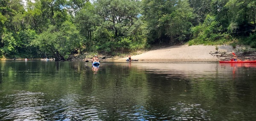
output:
{"label": "tall spreading tree with dark trunk, up behind blue kayak", "polygon": [[96,11],[104,18],[115,37],[124,36],[125,27],[134,24],[140,14],[140,1],[137,0],[97,0]]}

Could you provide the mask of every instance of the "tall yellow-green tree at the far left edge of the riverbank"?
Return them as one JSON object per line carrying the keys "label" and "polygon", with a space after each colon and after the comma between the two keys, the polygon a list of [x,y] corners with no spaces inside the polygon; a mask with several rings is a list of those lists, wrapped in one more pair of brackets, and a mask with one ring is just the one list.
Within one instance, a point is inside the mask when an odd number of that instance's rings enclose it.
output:
{"label": "tall yellow-green tree at the far left edge of the riverbank", "polygon": [[0,56],[13,55],[17,41],[15,33],[22,29],[22,14],[25,12],[21,0],[0,1]]}

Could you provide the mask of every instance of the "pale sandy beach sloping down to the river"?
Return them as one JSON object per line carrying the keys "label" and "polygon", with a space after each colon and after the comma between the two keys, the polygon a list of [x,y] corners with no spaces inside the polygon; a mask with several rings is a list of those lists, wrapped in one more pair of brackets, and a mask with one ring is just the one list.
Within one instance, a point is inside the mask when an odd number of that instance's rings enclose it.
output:
{"label": "pale sandy beach sloping down to the river", "polygon": [[[215,46],[204,45],[181,45],[170,46],[162,49],[144,52],[140,55],[131,55],[132,59],[139,59],[140,62],[172,62],[172,61],[218,61],[221,60],[217,56],[211,55],[217,50]],[[227,54],[236,52],[237,47],[233,49],[232,46],[221,45],[218,46],[218,52],[226,52]],[[116,59],[116,62],[124,62],[128,57]]]}

